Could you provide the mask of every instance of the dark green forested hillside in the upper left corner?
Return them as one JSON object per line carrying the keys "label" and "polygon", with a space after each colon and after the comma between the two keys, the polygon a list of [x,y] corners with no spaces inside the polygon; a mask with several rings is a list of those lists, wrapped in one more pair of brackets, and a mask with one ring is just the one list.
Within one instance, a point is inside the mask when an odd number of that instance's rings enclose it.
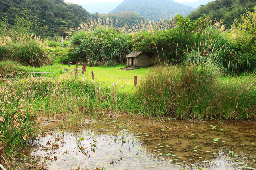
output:
{"label": "dark green forested hillside in the upper left corner", "polygon": [[10,25],[22,14],[30,20],[40,21],[40,26],[49,26],[48,36],[60,27],[74,28],[88,20],[90,13],[78,4],[67,4],[64,0],[0,0],[0,18],[6,17]]}

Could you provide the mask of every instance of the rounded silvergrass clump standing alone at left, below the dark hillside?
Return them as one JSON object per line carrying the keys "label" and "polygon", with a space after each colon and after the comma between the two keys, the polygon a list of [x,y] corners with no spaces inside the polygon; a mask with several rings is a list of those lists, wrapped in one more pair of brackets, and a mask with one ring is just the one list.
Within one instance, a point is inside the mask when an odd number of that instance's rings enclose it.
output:
{"label": "rounded silvergrass clump standing alone at left, below the dark hillside", "polygon": [[16,41],[9,44],[9,48],[10,59],[25,66],[40,67],[52,63],[52,59],[48,56],[46,46],[44,42],[40,41],[40,37],[21,35]]}

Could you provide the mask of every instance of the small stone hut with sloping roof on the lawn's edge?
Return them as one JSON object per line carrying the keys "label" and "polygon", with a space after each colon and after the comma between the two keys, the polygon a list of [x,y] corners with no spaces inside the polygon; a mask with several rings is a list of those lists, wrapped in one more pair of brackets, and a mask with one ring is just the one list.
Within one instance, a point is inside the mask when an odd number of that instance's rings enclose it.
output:
{"label": "small stone hut with sloping roof on the lawn's edge", "polygon": [[152,55],[144,51],[132,51],[126,55],[128,68],[144,68],[151,66]]}

